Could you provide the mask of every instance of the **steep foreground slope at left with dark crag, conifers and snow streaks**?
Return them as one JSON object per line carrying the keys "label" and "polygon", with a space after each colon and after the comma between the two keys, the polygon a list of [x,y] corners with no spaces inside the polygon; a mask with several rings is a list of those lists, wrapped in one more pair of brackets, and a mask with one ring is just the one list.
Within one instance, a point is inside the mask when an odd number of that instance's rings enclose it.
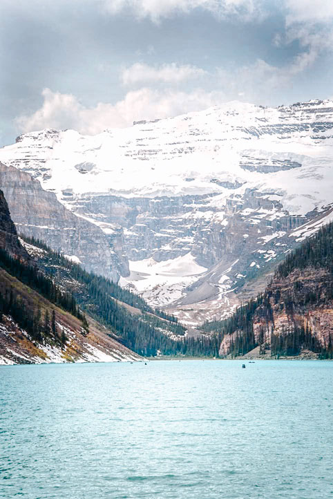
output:
{"label": "steep foreground slope at left with dark crag, conifers and snow streaks", "polygon": [[0,191],[0,364],[140,359],[42,274]]}

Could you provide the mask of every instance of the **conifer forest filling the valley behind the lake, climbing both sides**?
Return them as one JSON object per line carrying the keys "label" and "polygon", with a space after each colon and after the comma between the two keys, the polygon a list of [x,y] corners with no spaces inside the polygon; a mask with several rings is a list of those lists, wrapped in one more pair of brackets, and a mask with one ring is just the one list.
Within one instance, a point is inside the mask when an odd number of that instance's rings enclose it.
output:
{"label": "conifer forest filling the valley behind the lake, climbing both sides", "polygon": [[[265,350],[263,338],[271,335],[272,355],[297,355],[301,348],[317,352],[323,358],[332,357],[332,340],[324,346],[318,343],[308,324],[306,326],[292,326],[286,331],[274,332],[274,311],[278,306],[280,310],[292,317],[296,307],[309,307],[331,301],[333,298],[332,279],[326,283],[325,294],[303,290],[301,282],[294,282],[292,292],[281,294],[278,288],[271,286],[256,299],[241,305],[236,312],[225,321],[210,321],[202,325],[202,330],[209,334],[200,335],[196,339],[185,338],[184,328],[178,324],[175,317],[158,309],[152,309],[142,297],[129,290],[120,288],[119,285],[102,276],[90,274],[76,263],[68,261],[59,252],[53,252],[41,241],[26,238],[32,245],[41,247],[46,251],[47,267],[51,276],[55,276],[57,267],[68,271],[68,275],[82,283],[86,292],[74,291],[75,298],[80,306],[97,321],[107,326],[126,346],[140,355],[154,356],[160,351],[163,355],[187,355],[200,357],[218,357],[219,346],[225,335],[233,335],[230,353],[232,356],[244,355],[256,346]],[[286,277],[295,268],[303,269],[311,265],[315,268],[326,268],[333,273],[332,265],[333,224],[320,229],[315,236],[308,239],[289,254],[283,263],[278,266],[275,277]],[[53,270],[50,270],[53,269]],[[142,314],[133,315],[124,306],[117,302],[122,301],[141,310]],[[161,321],[160,319],[166,319]],[[254,335],[254,318],[263,323],[259,338]],[[167,334],[166,334],[167,333]],[[213,334],[212,334],[213,333]],[[177,335],[175,339],[173,335]]]}

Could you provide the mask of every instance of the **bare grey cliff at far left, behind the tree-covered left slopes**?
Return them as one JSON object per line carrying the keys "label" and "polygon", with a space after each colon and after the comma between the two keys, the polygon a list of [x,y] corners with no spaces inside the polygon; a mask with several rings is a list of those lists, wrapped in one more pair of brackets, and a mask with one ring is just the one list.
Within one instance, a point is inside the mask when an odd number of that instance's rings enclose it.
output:
{"label": "bare grey cliff at far left, behind the tree-covered left slopes", "polygon": [[41,188],[38,180],[2,163],[0,185],[19,233],[47,241],[53,249],[64,252],[97,274],[115,280],[119,277],[119,268],[126,274],[121,231],[113,230],[106,236],[95,224],[61,205],[53,192]]}

